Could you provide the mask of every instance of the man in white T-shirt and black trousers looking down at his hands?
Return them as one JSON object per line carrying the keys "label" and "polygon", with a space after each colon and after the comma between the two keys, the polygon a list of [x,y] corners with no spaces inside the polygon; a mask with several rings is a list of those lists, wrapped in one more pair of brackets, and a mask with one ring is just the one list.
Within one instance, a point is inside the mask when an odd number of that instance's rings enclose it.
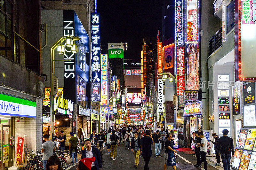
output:
{"label": "man in white T-shirt and black trousers looking down at his hands", "polygon": [[202,158],[202,162],[204,162],[204,168],[202,170],[207,170],[207,161],[206,161],[206,153],[207,153],[207,139],[204,137],[203,132],[198,132],[199,137],[202,139],[201,143],[196,143],[200,146],[200,155]]}

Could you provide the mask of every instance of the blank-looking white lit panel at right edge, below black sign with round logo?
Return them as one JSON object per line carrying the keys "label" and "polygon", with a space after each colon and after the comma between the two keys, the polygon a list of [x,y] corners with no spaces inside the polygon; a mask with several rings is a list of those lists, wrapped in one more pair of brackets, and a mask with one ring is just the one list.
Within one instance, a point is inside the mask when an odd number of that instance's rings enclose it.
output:
{"label": "blank-looking white lit panel at right edge, below black sign with round logo", "polygon": [[244,106],[244,127],[256,126],[255,104]]}

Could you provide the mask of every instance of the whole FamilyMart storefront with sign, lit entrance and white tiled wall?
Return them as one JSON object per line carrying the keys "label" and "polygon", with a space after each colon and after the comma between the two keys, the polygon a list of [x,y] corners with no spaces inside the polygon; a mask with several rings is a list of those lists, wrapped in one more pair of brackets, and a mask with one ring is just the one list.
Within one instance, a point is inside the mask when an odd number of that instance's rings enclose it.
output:
{"label": "whole FamilyMart storefront with sign, lit entrance and white tiled wall", "polygon": [[0,170],[13,165],[23,167],[25,146],[36,150],[42,144],[42,129],[38,129],[42,127],[42,107],[38,107],[42,99],[13,94],[17,93],[0,93]]}

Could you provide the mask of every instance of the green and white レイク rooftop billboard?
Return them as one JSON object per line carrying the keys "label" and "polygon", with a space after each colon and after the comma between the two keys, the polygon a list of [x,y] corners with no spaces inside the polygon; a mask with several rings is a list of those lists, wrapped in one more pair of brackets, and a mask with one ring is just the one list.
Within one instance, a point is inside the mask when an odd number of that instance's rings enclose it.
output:
{"label": "green and white \u30ec\u30a4\u30af rooftop billboard", "polygon": [[108,43],[108,58],[124,58],[124,44]]}

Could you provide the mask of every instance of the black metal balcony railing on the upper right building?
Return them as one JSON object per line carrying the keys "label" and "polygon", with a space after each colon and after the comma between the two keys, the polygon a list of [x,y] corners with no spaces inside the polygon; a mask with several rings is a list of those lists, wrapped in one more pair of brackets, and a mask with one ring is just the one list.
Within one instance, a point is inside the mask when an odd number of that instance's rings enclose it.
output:
{"label": "black metal balcony railing on the upper right building", "polygon": [[216,32],[216,34],[209,41],[209,56],[222,46],[222,27]]}

